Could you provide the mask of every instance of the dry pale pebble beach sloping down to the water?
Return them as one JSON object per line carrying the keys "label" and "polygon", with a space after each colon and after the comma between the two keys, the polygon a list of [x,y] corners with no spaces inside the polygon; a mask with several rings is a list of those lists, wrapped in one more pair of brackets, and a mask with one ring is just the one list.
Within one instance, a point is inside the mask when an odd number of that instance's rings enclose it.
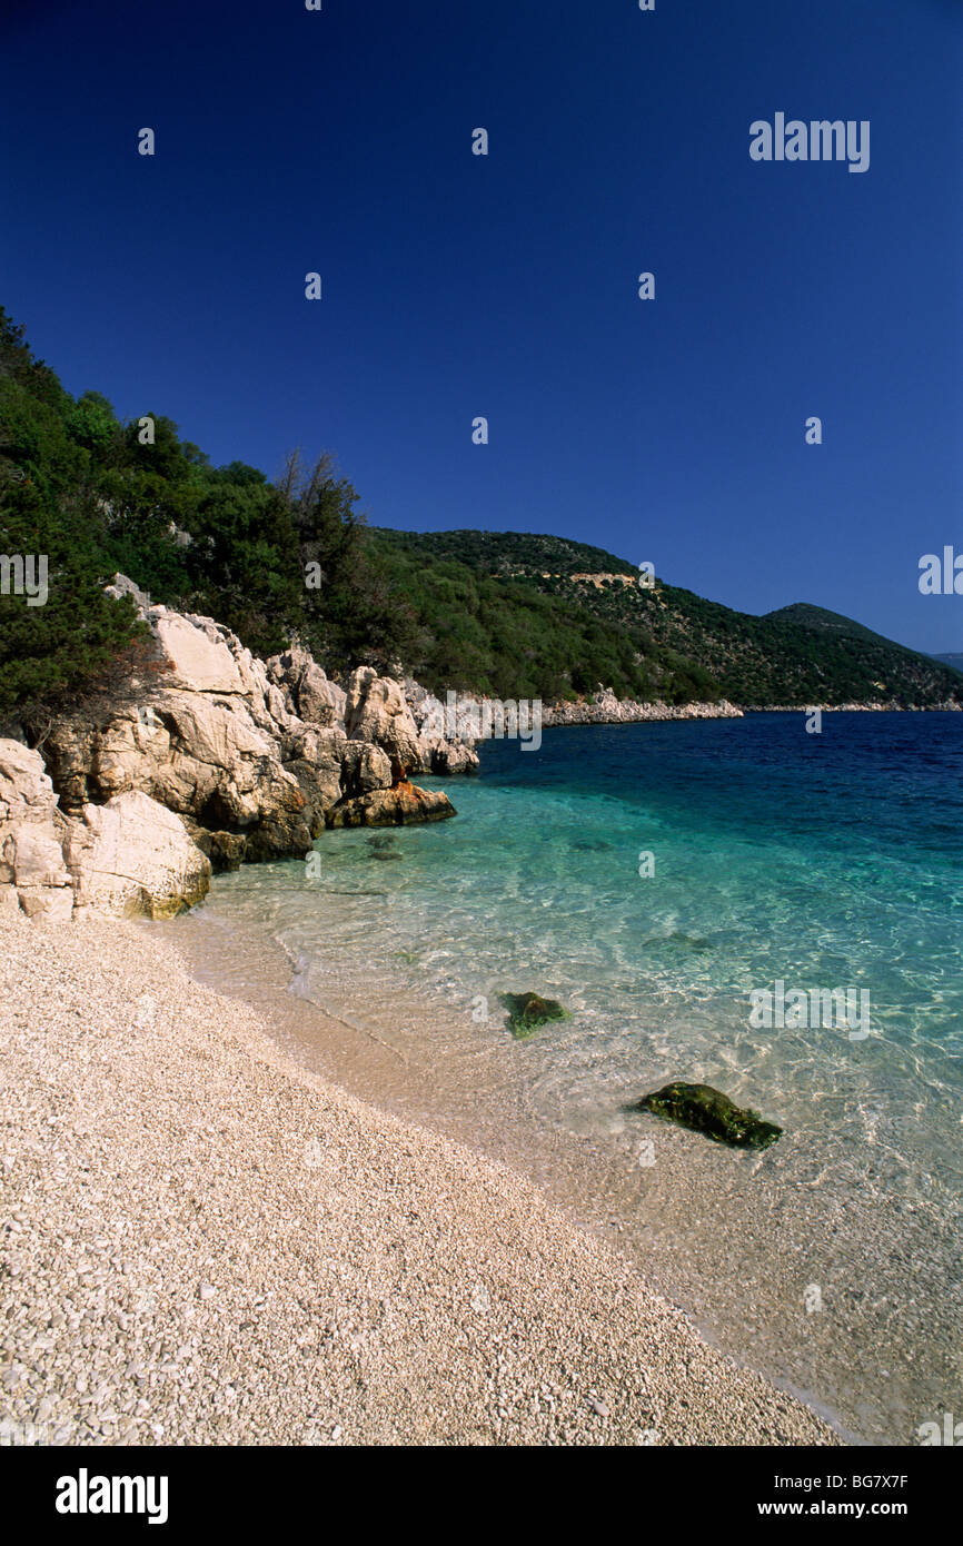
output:
{"label": "dry pale pebble beach sloping down to the water", "polygon": [[168,940],[0,928],[14,1427],[82,1444],[841,1442],[533,1183],[305,1070]]}

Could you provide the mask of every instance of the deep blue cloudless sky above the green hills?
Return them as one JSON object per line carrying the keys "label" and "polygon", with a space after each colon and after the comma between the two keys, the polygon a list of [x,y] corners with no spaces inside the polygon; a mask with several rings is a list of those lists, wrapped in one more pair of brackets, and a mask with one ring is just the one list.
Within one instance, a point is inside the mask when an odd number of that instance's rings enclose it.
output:
{"label": "deep blue cloudless sky above the green hills", "polygon": [[[2,14],[0,301],[71,391],[272,476],[332,448],[379,524],[963,649],[917,589],[963,550],[958,0]],[[869,119],[869,172],[753,162],[776,111]]]}

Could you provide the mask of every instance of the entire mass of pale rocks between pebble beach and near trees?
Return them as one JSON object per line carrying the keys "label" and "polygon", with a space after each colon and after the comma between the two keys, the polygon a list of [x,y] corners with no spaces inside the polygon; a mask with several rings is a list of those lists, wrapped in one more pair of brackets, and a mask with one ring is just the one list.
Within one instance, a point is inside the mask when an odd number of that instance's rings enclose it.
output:
{"label": "entire mass of pale rocks between pebble beach and near trees", "polygon": [[303,858],[325,827],[454,815],[411,775],[478,756],[437,733],[441,705],[417,683],[413,703],[371,666],[339,686],[297,646],[263,662],[122,575],[111,591],[150,629],[148,669],[56,717],[37,747],[0,739],[0,911],[168,917],[218,870]]}

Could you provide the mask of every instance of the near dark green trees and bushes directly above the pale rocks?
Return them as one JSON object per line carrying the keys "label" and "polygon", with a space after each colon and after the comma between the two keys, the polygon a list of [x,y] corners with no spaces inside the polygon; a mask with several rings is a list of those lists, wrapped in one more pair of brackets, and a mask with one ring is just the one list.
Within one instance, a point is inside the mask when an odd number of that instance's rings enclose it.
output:
{"label": "near dark green trees and bushes directly above the pale rocks", "polygon": [[0,725],[43,720],[144,656],[133,603],[104,594],[117,570],[261,654],[295,635],[334,673],[403,654],[413,615],[329,456],[305,467],[295,453],[271,484],[243,462],[212,467],[170,419],[144,417],[121,424],[99,393],[71,397],[0,308],[0,552],[48,555],[46,604],[0,595]]}

